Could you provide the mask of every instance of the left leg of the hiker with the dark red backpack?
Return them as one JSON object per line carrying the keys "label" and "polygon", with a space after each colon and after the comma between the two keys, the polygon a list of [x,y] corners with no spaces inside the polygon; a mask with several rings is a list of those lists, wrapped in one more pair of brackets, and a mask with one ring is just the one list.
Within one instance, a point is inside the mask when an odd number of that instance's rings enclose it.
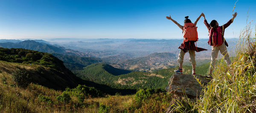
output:
{"label": "left leg of the hiker with the dark red backpack", "polygon": [[215,67],[215,61],[216,61],[216,58],[218,57],[218,51],[219,51],[218,47],[212,46],[212,58],[211,58],[211,64],[210,64],[210,67],[209,67],[209,74],[210,75],[212,75],[212,70]]}

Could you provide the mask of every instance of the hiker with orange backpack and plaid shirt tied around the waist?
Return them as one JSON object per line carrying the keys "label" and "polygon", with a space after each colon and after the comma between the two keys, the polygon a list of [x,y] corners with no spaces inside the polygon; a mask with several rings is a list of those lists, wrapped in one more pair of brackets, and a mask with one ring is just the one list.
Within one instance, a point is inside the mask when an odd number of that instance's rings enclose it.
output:
{"label": "hiker with orange backpack and plaid shirt tied around the waist", "polygon": [[184,26],[180,25],[178,22],[173,20],[171,18],[171,15],[170,17],[166,17],[167,19],[172,20],[172,22],[174,22],[182,30],[182,33],[183,33],[183,43],[180,45],[180,47],[178,47],[180,49],[179,58],[177,59],[179,63],[179,69],[175,70],[175,73],[182,74],[182,64],[183,64],[184,55],[186,52],[189,52],[189,56],[190,56],[189,61],[192,64],[192,68],[193,68],[192,74],[196,74],[195,73],[195,63],[196,63],[195,51],[200,52],[200,51],[206,50],[204,48],[195,46],[195,42],[198,41],[196,24],[198,20],[201,18],[202,14],[196,19],[195,23],[192,23],[191,20],[188,19],[189,16],[185,17]]}

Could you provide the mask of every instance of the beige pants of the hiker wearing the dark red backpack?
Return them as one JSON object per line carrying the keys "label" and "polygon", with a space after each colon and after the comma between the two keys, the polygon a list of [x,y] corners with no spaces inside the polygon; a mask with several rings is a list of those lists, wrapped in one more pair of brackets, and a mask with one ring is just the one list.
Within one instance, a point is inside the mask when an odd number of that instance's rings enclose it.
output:
{"label": "beige pants of the hiker wearing the dark red backpack", "polygon": [[227,65],[229,66],[231,64],[229,55],[227,53],[227,48],[224,42],[220,46],[217,46],[217,47],[212,46],[212,59],[211,59],[211,65],[209,68],[209,74],[212,74],[212,70],[215,67],[215,61],[216,61],[216,58],[218,57],[218,51],[221,51],[221,54],[224,56],[224,60],[226,61]]}

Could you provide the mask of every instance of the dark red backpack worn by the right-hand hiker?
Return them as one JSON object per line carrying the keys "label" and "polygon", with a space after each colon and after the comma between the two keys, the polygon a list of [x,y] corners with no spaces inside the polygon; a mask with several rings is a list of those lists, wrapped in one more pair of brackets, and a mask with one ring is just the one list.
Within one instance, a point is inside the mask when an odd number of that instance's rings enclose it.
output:
{"label": "dark red backpack worn by the right-hand hiker", "polygon": [[221,33],[221,26],[216,28],[216,30],[211,28],[209,32],[209,45],[216,47],[216,46],[222,45],[222,43],[223,43],[223,39],[222,39],[222,33]]}

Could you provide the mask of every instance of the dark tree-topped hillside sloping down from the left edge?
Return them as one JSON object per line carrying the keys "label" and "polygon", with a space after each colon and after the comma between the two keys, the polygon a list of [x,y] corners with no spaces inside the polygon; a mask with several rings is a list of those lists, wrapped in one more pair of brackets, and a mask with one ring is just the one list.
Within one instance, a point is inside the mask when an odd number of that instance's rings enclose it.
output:
{"label": "dark tree-topped hillside sloping down from the left edge", "polygon": [[1,72],[22,70],[29,73],[31,82],[49,88],[76,87],[81,82],[61,60],[46,52],[0,47],[0,60]]}

